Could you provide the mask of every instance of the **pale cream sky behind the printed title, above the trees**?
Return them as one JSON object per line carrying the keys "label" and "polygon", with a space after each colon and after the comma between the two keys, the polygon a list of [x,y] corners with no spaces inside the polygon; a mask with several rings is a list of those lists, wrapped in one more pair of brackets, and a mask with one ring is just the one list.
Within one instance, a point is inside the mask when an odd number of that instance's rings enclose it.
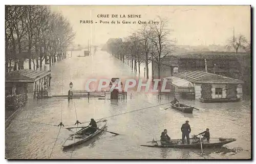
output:
{"label": "pale cream sky behind the printed title, above the trees", "polygon": [[[76,32],[74,44],[104,44],[109,38],[124,38],[138,30],[138,21],[167,18],[170,38],[181,45],[225,45],[227,39],[244,35],[250,40],[250,6],[51,6],[53,12],[65,16]],[[109,14],[109,18],[98,18],[98,14]],[[112,18],[112,14],[118,14]],[[126,17],[120,17],[125,15]],[[128,14],[141,18],[128,18]],[[80,24],[80,20],[93,20],[93,24]],[[120,21],[120,24],[99,24],[99,21]],[[122,21],[136,24],[122,24]],[[96,24],[95,21],[98,23]]]}

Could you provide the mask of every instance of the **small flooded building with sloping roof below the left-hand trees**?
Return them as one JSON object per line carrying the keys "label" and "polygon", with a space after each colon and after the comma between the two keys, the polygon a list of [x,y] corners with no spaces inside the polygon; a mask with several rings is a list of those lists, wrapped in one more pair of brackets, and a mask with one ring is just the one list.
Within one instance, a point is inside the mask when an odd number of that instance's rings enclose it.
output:
{"label": "small flooded building with sloping roof below the left-hand trees", "polygon": [[29,97],[33,96],[34,91],[46,91],[50,86],[50,79],[51,73],[48,71],[20,69],[7,73],[5,76],[6,94],[28,93]]}

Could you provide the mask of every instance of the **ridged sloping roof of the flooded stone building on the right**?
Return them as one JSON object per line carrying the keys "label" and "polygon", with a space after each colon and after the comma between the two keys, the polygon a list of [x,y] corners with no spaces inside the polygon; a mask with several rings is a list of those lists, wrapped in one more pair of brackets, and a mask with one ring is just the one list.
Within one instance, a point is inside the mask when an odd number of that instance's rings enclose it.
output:
{"label": "ridged sloping roof of the flooded stone building on the right", "polygon": [[228,78],[221,75],[210,74],[201,71],[191,71],[191,72],[183,72],[177,73],[174,76],[186,79],[193,83],[210,83],[210,84],[242,84],[244,83],[241,80]]}

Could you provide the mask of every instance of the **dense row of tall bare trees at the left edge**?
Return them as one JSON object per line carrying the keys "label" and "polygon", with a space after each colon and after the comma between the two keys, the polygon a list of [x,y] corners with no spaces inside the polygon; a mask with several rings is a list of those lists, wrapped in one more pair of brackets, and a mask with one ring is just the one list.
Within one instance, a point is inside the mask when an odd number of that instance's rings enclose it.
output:
{"label": "dense row of tall bare trees at the left edge", "polygon": [[[67,47],[75,37],[69,21],[49,6],[5,6],[6,72],[42,68],[42,62],[54,63],[67,58]],[[36,62],[36,63],[35,63]]]}

